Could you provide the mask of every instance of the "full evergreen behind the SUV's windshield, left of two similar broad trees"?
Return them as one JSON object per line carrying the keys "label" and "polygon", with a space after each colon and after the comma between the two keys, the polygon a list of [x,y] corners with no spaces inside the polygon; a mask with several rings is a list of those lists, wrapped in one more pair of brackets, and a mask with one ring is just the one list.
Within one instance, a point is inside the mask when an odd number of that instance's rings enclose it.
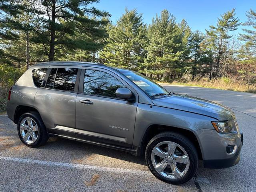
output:
{"label": "full evergreen behind the SUV's windshield, left of two similar broad trees", "polygon": [[108,26],[108,44],[100,56],[112,66],[138,68],[146,57],[147,44],[146,25],[142,22],[142,14],[136,9],[125,13],[116,25]]}

